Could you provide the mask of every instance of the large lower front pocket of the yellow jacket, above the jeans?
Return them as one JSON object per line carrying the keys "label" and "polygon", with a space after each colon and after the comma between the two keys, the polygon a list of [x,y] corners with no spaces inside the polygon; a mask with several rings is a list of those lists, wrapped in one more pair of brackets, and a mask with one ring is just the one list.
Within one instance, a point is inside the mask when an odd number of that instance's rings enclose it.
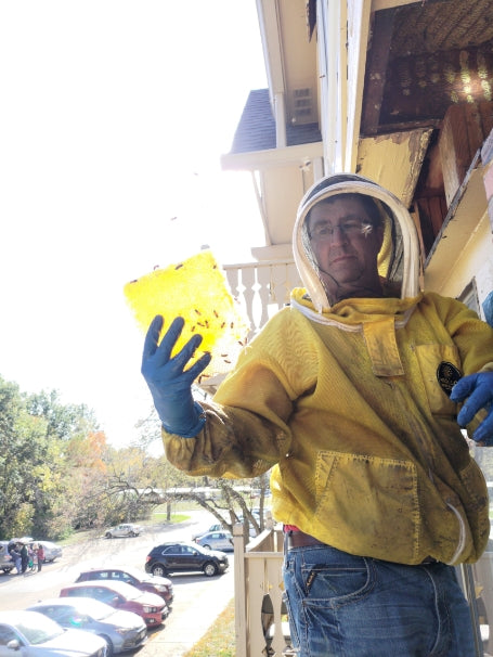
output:
{"label": "large lower front pocket of the yellow jacket, above the jeans", "polygon": [[336,451],[319,452],[316,520],[329,544],[360,556],[420,561],[420,515],[414,463]]}

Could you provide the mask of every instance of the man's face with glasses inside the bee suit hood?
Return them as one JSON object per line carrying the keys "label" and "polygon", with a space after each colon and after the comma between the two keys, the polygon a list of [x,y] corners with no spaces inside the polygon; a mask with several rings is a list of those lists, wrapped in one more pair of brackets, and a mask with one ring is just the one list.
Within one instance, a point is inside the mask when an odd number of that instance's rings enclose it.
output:
{"label": "man's face with glasses inside the bee suit hood", "polygon": [[310,244],[329,301],[382,296],[377,256],[384,229],[375,228],[358,197],[319,203],[310,211]]}

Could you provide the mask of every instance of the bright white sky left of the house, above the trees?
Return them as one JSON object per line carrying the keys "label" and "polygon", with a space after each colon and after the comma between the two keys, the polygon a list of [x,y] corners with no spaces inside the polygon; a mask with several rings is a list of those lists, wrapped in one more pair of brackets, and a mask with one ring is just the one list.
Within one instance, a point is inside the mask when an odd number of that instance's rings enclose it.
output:
{"label": "bright white sky left of the house, above the trees", "polygon": [[219,164],[267,87],[256,3],[5,0],[0,61],[0,376],[128,445],[151,396],[124,285],[263,244],[249,175]]}

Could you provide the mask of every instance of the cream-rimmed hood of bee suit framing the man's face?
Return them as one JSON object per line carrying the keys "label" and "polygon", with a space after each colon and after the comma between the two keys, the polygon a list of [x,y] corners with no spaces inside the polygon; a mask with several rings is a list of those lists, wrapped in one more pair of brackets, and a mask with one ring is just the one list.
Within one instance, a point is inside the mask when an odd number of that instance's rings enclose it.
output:
{"label": "cream-rimmed hood of bee suit framing the man's face", "polygon": [[317,312],[328,311],[330,304],[311,250],[306,220],[314,205],[336,194],[365,194],[375,199],[385,226],[384,242],[378,254],[378,273],[388,285],[400,287],[401,298],[419,294],[419,243],[414,221],[405,206],[391,192],[367,178],[355,173],[337,173],[319,180],[304,194],[293,232],[295,262]]}

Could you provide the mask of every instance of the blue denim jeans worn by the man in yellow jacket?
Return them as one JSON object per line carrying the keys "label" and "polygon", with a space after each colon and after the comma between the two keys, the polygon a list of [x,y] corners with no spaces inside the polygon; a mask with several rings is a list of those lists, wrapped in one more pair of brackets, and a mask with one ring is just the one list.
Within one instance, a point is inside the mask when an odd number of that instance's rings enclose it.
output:
{"label": "blue denim jeans worn by the man in yellow jacket", "polygon": [[289,550],[283,575],[299,657],[475,655],[452,566],[403,566],[316,545]]}

